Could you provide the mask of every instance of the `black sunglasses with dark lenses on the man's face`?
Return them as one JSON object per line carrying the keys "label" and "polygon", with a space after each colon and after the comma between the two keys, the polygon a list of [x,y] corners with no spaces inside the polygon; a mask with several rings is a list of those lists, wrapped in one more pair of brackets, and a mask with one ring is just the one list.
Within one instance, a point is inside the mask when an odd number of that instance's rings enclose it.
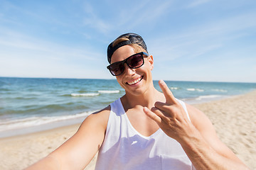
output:
{"label": "black sunglasses with dark lenses on the man's face", "polygon": [[146,55],[146,57],[149,56],[148,54],[146,54],[146,52],[139,52],[135,55],[128,57],[125,60],[110,64],[109,66],[107,66],[107,69],[110,70],[110,73],[113,76],[119,76],[124,72],[124,63],[126,63],[127,66],[130,67],[131,69],[137,69],[139,67],[142,67],[142,65],[144,64],[143,55]]}

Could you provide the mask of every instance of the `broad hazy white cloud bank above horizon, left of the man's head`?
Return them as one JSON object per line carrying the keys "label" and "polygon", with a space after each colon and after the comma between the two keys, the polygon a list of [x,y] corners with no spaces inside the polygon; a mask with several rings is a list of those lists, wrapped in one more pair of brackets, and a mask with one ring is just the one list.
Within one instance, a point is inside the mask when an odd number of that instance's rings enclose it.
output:
{"label": "broad hazy white cloud bank above horizon, left of the man's head", "polygon": [[[92,66],[105,61],[102,57],[105,54],[93,49],[32,38],[0,27],[0,76],[90,77],[95,69]],[[97,70],[104,72],[103,69]],[[99,76],[102,74],[95,75],[95,78]]]}

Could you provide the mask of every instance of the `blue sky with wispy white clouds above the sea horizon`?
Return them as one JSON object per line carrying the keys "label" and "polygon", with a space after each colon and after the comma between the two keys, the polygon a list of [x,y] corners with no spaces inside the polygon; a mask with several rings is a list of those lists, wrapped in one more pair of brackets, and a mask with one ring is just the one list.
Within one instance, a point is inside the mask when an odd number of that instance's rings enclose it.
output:
{"label": "blue sky with wispy white clouds above the sea horizon", "polygon": [[0,0],[0,77],[113,79],[107,45],[132,32],[153,79],[256,82],[255,18],[255,0]]}

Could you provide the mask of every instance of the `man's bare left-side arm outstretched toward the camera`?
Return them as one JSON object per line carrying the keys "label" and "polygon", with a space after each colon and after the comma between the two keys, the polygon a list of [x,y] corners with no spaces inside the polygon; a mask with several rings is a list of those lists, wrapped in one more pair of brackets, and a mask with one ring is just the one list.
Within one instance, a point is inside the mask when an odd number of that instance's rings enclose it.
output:
{"label": "man's bare left-side arm outstretched toward the camera", "polygon": [[89,115],[73,137],[27,170],[84,169],[102,145],[109,115],[110,106]]}

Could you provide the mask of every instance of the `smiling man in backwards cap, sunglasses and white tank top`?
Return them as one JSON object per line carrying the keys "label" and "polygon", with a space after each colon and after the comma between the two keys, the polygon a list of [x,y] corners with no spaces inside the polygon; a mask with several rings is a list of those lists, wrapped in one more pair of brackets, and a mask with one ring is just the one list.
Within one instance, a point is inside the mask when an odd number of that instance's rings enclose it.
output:
{"label": "smiling man in backwards cap, sunglasses and white tank top", "polygon": [[124,96],[89,115],[78,132],[28,169],[247,169],[218,139],[210,120],[174,98],[164,81],[154,88],[154,60],[141,36],[120,35],[107,49]]}

